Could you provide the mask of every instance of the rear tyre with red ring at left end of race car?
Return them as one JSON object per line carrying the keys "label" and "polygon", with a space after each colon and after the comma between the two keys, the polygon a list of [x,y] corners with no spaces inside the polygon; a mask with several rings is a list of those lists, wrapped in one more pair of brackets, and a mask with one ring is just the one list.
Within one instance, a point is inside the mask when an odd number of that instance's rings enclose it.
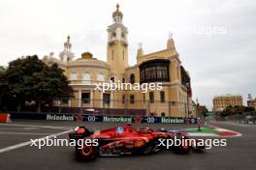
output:
{"label": "rear tyre with red ring at left end of race car", "polygon": [[86,145],[82,148],[76,147],[75,155],[78,161],[95,160],[98,156],[98,147]]}

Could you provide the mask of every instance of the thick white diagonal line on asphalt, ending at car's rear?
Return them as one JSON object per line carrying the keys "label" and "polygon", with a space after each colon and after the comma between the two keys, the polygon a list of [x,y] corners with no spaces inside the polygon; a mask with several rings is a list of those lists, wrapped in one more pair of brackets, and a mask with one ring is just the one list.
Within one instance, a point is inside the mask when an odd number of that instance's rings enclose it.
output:
{"label": "thick white diagonal line on asphalt, ending at car's rear", "polygon": [[[37,141],[39,141],[39,140],[46,140],[47,138],[57,137],[57,136],[66,134],[68,132],[71,132],[72,130],[73,129],[69,129],[69,130],[66,130],[66,131],[63,131],[63,132],[60,132],[60,133],[55,133],[55,134],[51,134],[51,135],[48,135],[48,136],[45,136],[45,137],[42,137],[42,138],[38,138]],[[27,146],[27,145],[31,145],[31,144],[32,144],[32,141],[30,140],[30,141],[22,142],[22,143],[19,143],[19,144],[10,146],[10,147],[6,147],[6,148],[3,148],[3,149],[0,149],[0,154],[1,153],[5,153],[5,152],[9,152],[9,151],[12,151],[12,150],[15,150],[15,149]]]}

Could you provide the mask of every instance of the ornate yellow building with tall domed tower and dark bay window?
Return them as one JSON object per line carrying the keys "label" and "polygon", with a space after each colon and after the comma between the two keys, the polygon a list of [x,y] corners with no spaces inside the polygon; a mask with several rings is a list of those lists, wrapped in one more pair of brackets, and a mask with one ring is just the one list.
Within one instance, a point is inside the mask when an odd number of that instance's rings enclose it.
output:
{"label": "ornate yellow building with tall domed tower and dark bay window", "polygon": [[[64,43],[59,58],[49,55],[44,61],[58,64],[65,71],[74,89],[74,99],[66,99],[62,104],[70,107],[86,108],[127,108],[145,109],[147,115],[183,117],[192,114],[190,76],[181,66],[172,36],[167,46],[149,54],[144,54],[142,44],[137,52],[137,64],[128,65],[128,31],[123,25],[123,14],[116,6],[112,14],[112,25],[107,29],[107,62],[84,52],[75,59],[70,37]],[[107,91],[95,90],[97,82],[156,83],[162,82],[161,91]],[[189,110],[189,111],[188,111]],[[122,114],[122,113],[120,113]]]}

